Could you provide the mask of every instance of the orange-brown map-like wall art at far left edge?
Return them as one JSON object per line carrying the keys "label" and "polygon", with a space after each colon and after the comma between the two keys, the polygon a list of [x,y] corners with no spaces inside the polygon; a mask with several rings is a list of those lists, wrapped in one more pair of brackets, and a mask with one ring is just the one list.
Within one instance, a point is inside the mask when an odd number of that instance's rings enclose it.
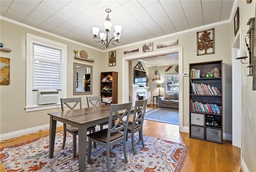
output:
{"label": "orange-brown map-like wall art at far left edge", "polygon": [[0,57],[0,85],[10,84],[10,59]]}

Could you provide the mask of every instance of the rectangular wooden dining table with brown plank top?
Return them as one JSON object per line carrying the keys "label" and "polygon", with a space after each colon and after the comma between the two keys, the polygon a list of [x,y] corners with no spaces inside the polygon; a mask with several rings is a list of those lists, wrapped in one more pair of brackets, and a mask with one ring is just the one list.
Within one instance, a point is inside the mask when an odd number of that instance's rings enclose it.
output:
{"label": "rectangular wooden dining table with brown plank top", "polygon": [[[131,114],[133,114],[133,112],[134,107],[131,107]],[[87,129],[96,126],[97,124],[108,122],[109,114],[110,105],[48,113],[48,115],[50,115],[49,158],[53,158],[54,154],[57,121],[71,125],[78,128],[79,172],[85,172]],[[117,119],[117,116],[113,114],[113,119],[115,118]]]}

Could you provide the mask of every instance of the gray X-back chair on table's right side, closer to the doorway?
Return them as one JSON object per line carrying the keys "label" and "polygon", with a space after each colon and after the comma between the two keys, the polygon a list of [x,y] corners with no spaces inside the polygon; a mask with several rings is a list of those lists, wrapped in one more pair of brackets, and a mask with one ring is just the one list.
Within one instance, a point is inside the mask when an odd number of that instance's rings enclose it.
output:
{"label": "gray X-back chair on table's right side, closer to the doorway", "polygon": [[[139,138],[141,140],[142,146],[144,147],[142,129],[143,129],[143,121],[144,121],[144,116],[145,116],[146,107],[147,107],[147,101],[148,99],[135,101],[133,118],[132,118],[132,121],[128,122],[127,133],[132,134],[132,152],[134,155],[135,155],[135,147],[134,147],[135,132],[139,132]],[[128,135],[126,136],[126,139],[127,138],[128,138]]]}

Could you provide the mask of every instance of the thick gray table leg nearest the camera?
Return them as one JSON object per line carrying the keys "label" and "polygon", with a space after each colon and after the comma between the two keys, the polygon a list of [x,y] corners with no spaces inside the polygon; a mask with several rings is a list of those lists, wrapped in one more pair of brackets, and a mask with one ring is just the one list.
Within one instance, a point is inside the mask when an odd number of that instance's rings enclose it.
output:
{"label": "thick gray table leg nearest the camera", "polygon": [[81,125],[78,128],[78,160],[79,172],[85,172],[86,167],[86,142],[87,142],[87,125]]}

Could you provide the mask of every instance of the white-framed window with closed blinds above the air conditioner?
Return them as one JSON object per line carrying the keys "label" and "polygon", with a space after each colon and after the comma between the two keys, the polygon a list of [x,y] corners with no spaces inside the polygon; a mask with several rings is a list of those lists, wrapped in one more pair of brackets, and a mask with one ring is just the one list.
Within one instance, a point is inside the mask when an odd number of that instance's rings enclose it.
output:
{"label": "white-framed window with closed blinds above the air conditioner", "polygon": [[[66,97],[67,46],[32,34],[27,34],[26,46],[26,112],[57,108],[60,98]],[[42,90],[58,91],[58,104],[40,103]]]}

